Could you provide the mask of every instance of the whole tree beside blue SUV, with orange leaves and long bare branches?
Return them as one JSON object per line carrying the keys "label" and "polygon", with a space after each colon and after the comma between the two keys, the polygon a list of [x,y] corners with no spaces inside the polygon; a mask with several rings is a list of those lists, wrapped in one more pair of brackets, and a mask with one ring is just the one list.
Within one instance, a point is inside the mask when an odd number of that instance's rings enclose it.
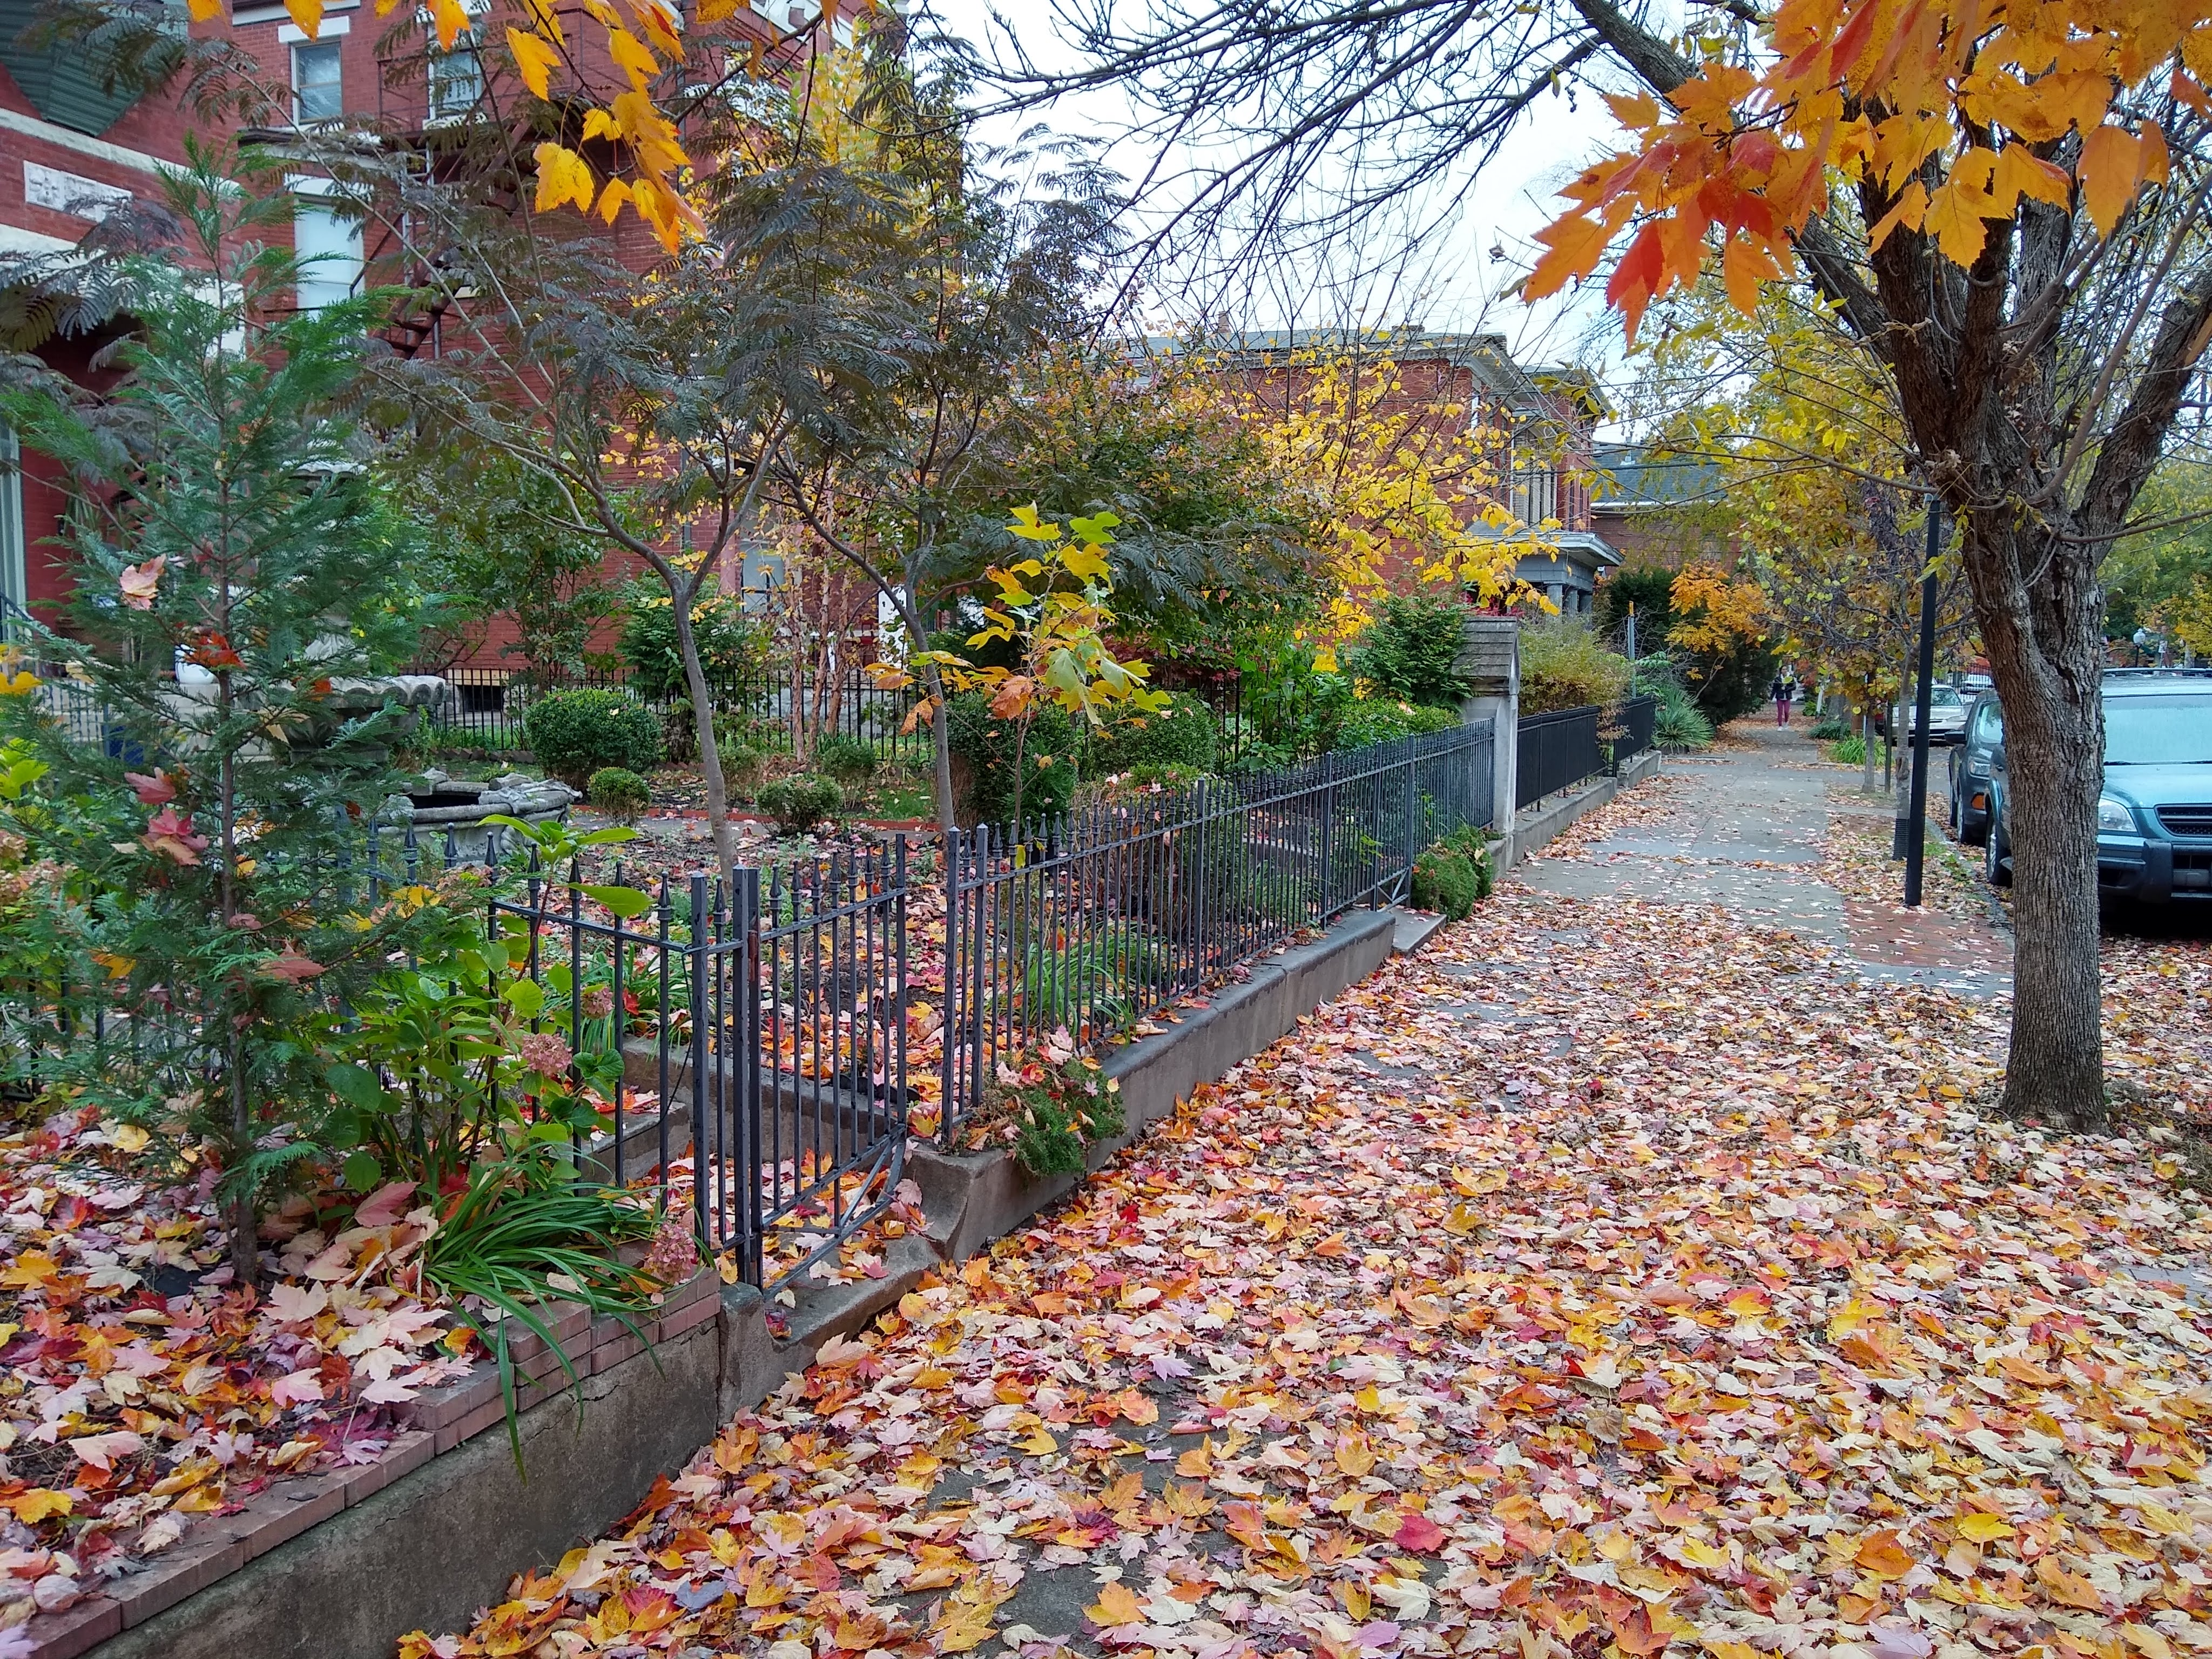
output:
{"label": "whole tree beside blue SUV, with orange leaves and long bare branches", "polygon": [[1018,64],[1037,91],[1117,82],[1186,148],[1265,108],[1161,237],[1241,201],[1250,246],[1279,246],[1325,159],[1323,228],[1369,230],[1462,186],[1540,102],[1604,91],[1630,142],[1571,186],[1531,296],[1604,270],[1630,327],[1708,265],[1739,305],[1772,283],[1820,296],[1958,522],[2004,697],[2004,1110],[2101,1124],[2099,566],[2212,341],[2212,4],[1690,0],[1681,35],[1617,0],[1079,11],[1091,62]]}

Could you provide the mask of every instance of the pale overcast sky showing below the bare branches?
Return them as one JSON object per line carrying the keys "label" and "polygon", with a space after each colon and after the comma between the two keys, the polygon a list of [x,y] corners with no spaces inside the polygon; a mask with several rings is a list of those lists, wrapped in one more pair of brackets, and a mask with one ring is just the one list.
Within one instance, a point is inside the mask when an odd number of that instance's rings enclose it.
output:
{"label": "pale overcast sky showing below the bare branches", "polygon": [[[1126,0],[1141,11],[1144,0]],[[1073,62],[1055,40],[1051,13],[1037,0],[998,0],[1002,18],[1011,20],[1029,55],[1046,66]],[[936,15],[953,31],[982,38],[991,22],[991,0],[933,0]],[[1113,95],[1062,104],[1046,119],[1068,133],[1113,137],[1128,126],[1128,106]],[[1002,124],[1000,133],[1011,135]],[[1420,248],[1376,246],[1360,250],[1369,263],[1389,265],[1389,274],[1365,281],[1356,292],[1325,292],[1316,270],[1298,270],[1276,285],[1239,285],[1234,294],[1208,294],[1208,310],[1237,307],[1232,321],[1243,327],[1283,327],[1343,323],[1347,316],[1378,323],[1418,323],[1429,330],[1491,330],[1506,336],[1522,361],[1586,361],[1613,367],[1619,358],[1619,334],[1610,330],[1588,301],[1528,307],[1502,290],[1528,268],[1535,257],[1533,237],[1555,215],[1555,192],[1586,161],[1608,148],[1617,135],[1610,113],[1590,95],[1575,108],[1564,97],[1546,97],[1522,119],[1498,159],[1484,170],[1469,199],[1460,204],[1438,234]],[[1126,177],[1137,177],[1152,155],[1137,144],[1110,142],[1108,164]],[[1504,250],[1495,259],[1493,250]],[[1152,316],[1152,310],[1159,310]],[[1172,321],[1172,305],[1148,307],[1148,321]]]}

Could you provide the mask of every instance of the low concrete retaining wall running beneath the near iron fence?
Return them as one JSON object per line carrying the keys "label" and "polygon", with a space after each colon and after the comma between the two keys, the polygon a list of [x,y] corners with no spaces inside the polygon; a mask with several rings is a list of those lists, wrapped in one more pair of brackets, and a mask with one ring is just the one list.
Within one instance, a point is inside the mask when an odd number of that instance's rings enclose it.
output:
{"label": "low concrete retaining wall running beneath the near iron fence", "polygon": [[[1121,1084],[1128,1130],[1093,1146],[1091,1168],[1104,1168],[1197,1084],[1290,1035],[1301,1018],[1374,973],[1391,953],[1398,920],[1398,911],[1347,916],[1314,942],[1254,964],[1159,1035],[1117,1048],[1106,1073]],[[498,1400],[456,1394],[436,1402],[451,1422],[416,1436],[418,1467],[374,1491],[314,1498],[312,1517],[307,1509],[294,1517],[296,1535],[243,1564],[226,1553],[237,1540],[221,1533],[223,1520],[204,1522],[206,1533],[195,1526],[177,1557],[159,1557],[173,1568],[190,1557],[190,1590],[184,1575],[168,1579],[181,1599],[166,1610],[139,1604],[131,1628],[122,1628],[124,1608],[113,1597],[40,1617],[35,1659],[389,1659],[407,1630],[467,1624],[515,1573],[557,1562],[619,1522],[723,1422],[812,1365],[823,1343],[863,1329],[925,1274],[1024,1225],[1079,1179],[1037,1179],[1006,1150],[956,1157],[916,1148],[907,1170],[922,1188],[927,1232],[889,1243],[883,1279],[792,1281],[785,1336],[770,1327],[750,1285],[723,1287],[708,1316],[697,1298],[712,1285],[701,1281],[672,1298],[681,1310],[661,1325],[675,1334],[650,1354],[635,1352],[626,1334],[564,1321],[555,1325],[564,1347],[575,1354],[577,1343],[591,1360],[577,1365],[586,1371],[584,1416],[577,1420],[557,1391],[551,1352],[520,1349],[524,1369],[542,1378],[526,1389],[535,1405],[520,1418],[526,1480],[498,1431]],[[482,1391],[480,1380],[467,1387]],[[336,1480],[341,1489],[347,1482]]]}

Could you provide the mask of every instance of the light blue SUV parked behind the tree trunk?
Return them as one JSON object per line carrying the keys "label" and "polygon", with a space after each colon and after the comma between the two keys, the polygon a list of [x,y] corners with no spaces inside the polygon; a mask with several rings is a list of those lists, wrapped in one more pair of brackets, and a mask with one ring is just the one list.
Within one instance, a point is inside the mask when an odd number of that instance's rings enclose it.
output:
{"label": "light blue SUV parked behind the tree trunk", "polygon": [[[1982,843],[1984,869],[1997,885],[2013,878],[2008,787],[2000,741]],[[2106,672],[2097,891],[2139,905],[2212,900],[2212,670]]]}

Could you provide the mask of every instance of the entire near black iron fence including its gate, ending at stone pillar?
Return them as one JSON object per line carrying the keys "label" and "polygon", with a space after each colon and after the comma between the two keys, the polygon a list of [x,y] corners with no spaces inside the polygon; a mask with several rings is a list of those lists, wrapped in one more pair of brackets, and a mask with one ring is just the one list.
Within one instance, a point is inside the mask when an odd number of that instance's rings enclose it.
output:
{"label": "entire near black iron fence including its gate, ending at stone pillar", "polygon": [[[619,865],[524,869],[487,889],[484,927],[535,987],[504,998],[515,1024],[560,1035],[597,1093],[580,1168],[692,1206],[739,1276],[774,1285],[894,1203],[909,1130],[956,1137],[1000,1060],[1062,1029],[1086,1046],[1128,1035],[1349,909],[1402,900],[1422,849],[1493,821],[1493,743],[1467,726],[1018,832],[655,878],[637,902],[606,891],[626,887]],[[504,854],[500,836],[465,852],[451,832],[367,830],[319,889],[378,905]],[[55,1042],[80,1013],[102,1042],[155,1035],[66,987],[53,1006]],[[936,1044],[918,1077],[914,1033]]]}

